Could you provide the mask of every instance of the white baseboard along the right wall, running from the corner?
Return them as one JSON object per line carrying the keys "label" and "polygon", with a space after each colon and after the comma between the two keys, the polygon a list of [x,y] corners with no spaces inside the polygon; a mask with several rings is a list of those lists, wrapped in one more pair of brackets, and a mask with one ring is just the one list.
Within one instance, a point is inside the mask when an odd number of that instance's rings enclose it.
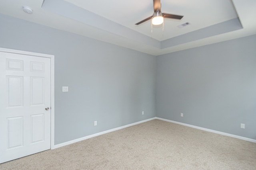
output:
{"label": "white baseboard along the right wall, running from the corner", "polygon": [[198,127],[198,126],[189,125],[189,124],[186,124],[186,123],[181,123],[181,122],[178,122],[178,121],[162,119],[162,118],[159,118],[159,117],[156,117],[156,119],[163,120],[163,121],[168,121],[168,122],[171,122],[171,123],[176,123],[176,124],[179,124],[179,125],[184,125],[184,126],[192,127],[192,128],[200,129],[200,130],[203,130],[203,131],[217,133],[217,134],[220,134],[220,135],[225,135],[225,136],[234,137],[234,138],[237,138],[237,139],[242,139],[244,141],[250,141],[250,142],[256,143],[255,139],[250,139],[250,138],[247,138],[247,137],[241,137],[241,136],[232,135],[232,134],[229,134],[229,133],[224,133],[224,132],[220,132],[220,131],[214,131],[212,129],[206,129],[206,128],[203,128],[203,127]]}

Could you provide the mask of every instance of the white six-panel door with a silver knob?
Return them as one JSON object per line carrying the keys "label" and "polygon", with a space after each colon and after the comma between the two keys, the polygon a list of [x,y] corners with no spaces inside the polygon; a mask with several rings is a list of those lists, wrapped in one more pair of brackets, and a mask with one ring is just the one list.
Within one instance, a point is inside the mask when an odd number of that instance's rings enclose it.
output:
{"label": "white six-panel door with a silver knob", "polygon": [[50,76],[49,58],[0,52],[0,163],[50,149]]}

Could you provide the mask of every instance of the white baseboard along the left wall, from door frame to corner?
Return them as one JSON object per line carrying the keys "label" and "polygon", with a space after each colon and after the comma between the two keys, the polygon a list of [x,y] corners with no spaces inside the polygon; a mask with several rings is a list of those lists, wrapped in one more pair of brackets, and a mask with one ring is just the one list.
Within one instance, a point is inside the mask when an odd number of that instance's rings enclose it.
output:
{"label": "white baseboard along the left wall, from door frame to corner", "polygon": [[154,119],[156,119],[156,117],[153,117],[153,118],[150,118],[150,119],[146,119],[146,120],[142,120],[142,121],[138,121],[138,122],[135,122],[135,123],[131,123],[131,124],[129,124],[129,125],[124,125],[124,126],[121,126],[121,127],[117,127],[117,128],[114,128],[114,129],[107,130],[107,131],[95,133],[95,134],[92,134],[92,135],[88,135],[88,136],[86,136],[86,137],[81,137],[81,138],[78,138],[78,139],[74,139],[74,140],[72,140],[72,141],[60,143],[60,144],[58,144],[58,145],[54,145],[54,148],[52,148],[52,149],[56,149],[56,148],[59,148],[59,147],[64,147],[64,146],[70,145],[70,144],[72,144],[72,143],[76,143],[76,142],[79,142],[79,141],[83,141],[83,140],[85,140],[85,139],[89,139],[89,138],[92,138],[92,137],[96,137],[96,136],[99,136],[99,135],[103,135],[103,134],[105,134],[105,133],[117,131],[117,130],[120,130],[120,129],[129,127],[129,126],[137,125],[137,124],[144,123],[144,122],[146,122],[146,121],[150,121],[150,120],[154,120]]}

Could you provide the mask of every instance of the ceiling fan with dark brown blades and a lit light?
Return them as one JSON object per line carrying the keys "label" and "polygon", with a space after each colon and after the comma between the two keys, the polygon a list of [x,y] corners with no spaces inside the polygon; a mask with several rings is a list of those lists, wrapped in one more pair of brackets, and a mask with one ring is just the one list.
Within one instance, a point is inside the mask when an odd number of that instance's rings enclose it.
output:
{"label": "ceiling fan with dark brown blades and a lit light", "polygon": [[173,14],[165,14],[161,12],[161,2],[160,0],[153,0],[154,3],[154,14],[153,16],[150,16],[148,18],[146,18],[145,20],[142,20],[138,23],[135,23],[135,25],[139,25],[145,21],[148,21],[150,19],[152,19],[152,24],[153,25],[160,25],[164,22],[164,18],[172,18],[172,19],[182,19],[183,16],[177,16],[177,15],[173,15]]}

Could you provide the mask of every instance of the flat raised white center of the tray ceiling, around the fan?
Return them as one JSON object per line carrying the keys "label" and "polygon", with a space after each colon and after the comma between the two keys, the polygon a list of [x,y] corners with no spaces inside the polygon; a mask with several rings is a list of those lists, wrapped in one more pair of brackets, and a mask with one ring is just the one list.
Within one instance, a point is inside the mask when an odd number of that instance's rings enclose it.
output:
{"label": "flat raised white center of the tray ceiling, around the fan", "polygon": [[[66,1],[158,41],[238,17],[231,0],[161,0],[162,12],[184,17],[182,20],[166,19],[166,30],[162,31],[162,25],[154,26],[151,33],[150,20],[138,26],[135,23],[153,15],[153,0],[93,0],[90,3],[85,0]],[[186,22],[191,25],[182,29],[177,27]]]}

